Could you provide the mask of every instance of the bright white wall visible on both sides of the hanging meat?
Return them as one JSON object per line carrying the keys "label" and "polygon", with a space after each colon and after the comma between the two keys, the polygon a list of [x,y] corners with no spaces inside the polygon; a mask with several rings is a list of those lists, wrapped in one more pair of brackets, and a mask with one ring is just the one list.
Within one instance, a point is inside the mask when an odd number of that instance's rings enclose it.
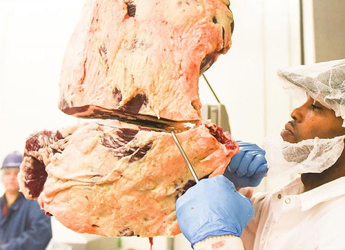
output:
{"label": "bright white wall visible on both sides of the hanging meat", "polygon": [[[0,160],[26,137],[77,120],[57,108],[61,61],[84,0],[0,0]],[[259,145],[289,120],[275,71],[299,64],[298,0],[233,0],[233,46],[206,72],[233,138]],[[203,103],[215,104],[200,80]],[[270,183],[264,187],[269,188]],[[181,238],[181,237],[179,237]],[[183,247],[182,247],[183,246]],[[175,249],[188,249],[181,239]]]}

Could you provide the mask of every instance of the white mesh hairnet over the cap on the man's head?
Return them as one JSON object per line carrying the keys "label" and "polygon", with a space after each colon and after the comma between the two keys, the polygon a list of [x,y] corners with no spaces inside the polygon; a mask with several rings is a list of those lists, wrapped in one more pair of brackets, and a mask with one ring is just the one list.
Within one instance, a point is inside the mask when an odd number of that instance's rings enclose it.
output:
{"label": "white mesh hairnet over the cap on the man's head", "polygon": [[278,70],[277,74],[342,116],[345,127],[345,59]]}

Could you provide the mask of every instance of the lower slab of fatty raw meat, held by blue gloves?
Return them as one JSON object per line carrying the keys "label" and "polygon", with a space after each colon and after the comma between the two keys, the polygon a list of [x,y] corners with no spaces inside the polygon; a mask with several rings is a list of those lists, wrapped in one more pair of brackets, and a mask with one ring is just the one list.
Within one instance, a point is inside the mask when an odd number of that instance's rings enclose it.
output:
{"label": "lower slab of fatty raw meat, held by blue gloves", "polygon": [[[32,134],[18,177],[21,192],[79,233],[175,236],[175,201],[195,184],[184,158],[170,134],[115,123]],[[177,137],[199,178],[223,174],[239,149],[210,123]]]}

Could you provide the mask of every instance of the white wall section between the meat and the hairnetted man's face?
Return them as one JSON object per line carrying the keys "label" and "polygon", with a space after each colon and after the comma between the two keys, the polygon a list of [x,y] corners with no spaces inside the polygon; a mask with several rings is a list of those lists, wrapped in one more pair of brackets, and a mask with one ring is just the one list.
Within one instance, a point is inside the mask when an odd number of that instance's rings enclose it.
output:
{"label": "white wall section between the meat and the hairnetted man's face", "polygon": [[[262,145],[265,136],[282,130],[294,107],[276,70],[300,64],[299,1],[231,1],[230,9],[232,48],[206,76],[227,107],[233,138]],[[215,103],[203,81],[199,86],[204,103]],[[289,179],[264,181],[258,189],[273,189]]]}

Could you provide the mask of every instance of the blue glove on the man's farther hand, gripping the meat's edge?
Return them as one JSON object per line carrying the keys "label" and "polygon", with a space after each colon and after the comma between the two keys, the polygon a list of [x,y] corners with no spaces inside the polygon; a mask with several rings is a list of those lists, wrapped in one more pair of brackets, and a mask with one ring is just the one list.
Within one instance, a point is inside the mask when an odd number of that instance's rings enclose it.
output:
{"label": "blue glove on the man's farther hand, gripping the meat's edge", "polygon": [[256,187],[267,174],[266,152],[253,143],[239,144],[239,153],[231,158],[224,176],[231,180],[235,187]]}

